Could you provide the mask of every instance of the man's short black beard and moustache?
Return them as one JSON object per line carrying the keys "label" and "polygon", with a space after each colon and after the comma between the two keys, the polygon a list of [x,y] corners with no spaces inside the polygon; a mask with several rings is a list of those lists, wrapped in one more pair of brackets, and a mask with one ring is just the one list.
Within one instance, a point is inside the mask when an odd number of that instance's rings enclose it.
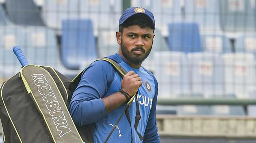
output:
{"label": "man's short black beard and moustache", "polygon": [[[151,47],[148,51],[145,51],[142,47],[137,46],[135,48],[132,48],[131,52],[129,52],[127,50],[126,45],[123,44],[123,40],[121,38],[121,53],[122,55],[126,58],[126,60],[128,60],[129,62],[135,64],[135,65],[140,65],[150,54],[151,50],[152,50],[152,45],[153,42],[151,44]],[[133,55],[133,51],[135,50],[140,50],[142,52],[141,55]]]}

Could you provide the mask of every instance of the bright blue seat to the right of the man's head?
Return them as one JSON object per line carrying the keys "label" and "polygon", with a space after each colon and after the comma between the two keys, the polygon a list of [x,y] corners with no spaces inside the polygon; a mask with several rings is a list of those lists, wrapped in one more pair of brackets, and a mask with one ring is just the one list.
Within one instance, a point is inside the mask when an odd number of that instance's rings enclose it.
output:
{"label": "bright blue seat to the right of the man's head", "polygon": [[197,23],[170,23],[167,40],[172,51],[185,53],[202,51]]}

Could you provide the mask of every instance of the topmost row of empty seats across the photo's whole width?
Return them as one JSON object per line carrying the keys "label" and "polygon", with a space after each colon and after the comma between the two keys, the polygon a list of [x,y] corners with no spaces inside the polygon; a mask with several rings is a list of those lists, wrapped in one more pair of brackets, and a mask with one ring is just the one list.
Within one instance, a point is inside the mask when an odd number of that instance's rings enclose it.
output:
{"label": "topmost row of empty seats across the photo's whole width", "polygon": [[[90,18],[95,32],[117,27],[121,0],[6,0],[9,19],[17,25],[61,29],[61,21]],[[256,30],[254,0],[131,0],[154,13],[158,28],[168,32],[168,23],[195,22],[205,33],[251,32]],[[31,20],[33,19],[33,20]]]}

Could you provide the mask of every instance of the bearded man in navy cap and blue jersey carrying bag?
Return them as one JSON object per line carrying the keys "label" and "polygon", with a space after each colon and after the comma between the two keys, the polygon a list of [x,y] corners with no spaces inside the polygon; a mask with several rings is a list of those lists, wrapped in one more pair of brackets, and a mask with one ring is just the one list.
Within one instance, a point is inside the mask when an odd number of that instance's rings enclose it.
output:
{"label": "bearded man in navy cap and blue jersey carrying bag", "polygon": [[143,141],[133,126],[136,116],[136,102],[133,100],[129,107],[132,126],[126,116],[122,116],[108,142],[131,143],[133,140],[134,143],[160,143],[156,126],[158,84],[154,76],[141,66],[150,54],[154,28],[154,16],[150,11],[141,7],[127,8],[119,19],[119,32],[116,32],[119,50],[108,58],[128,73],[122,78],[107,61],[95,61],[82,74],[69,111],[78,126],[95,123],[92,125],[95,143],[105,141],[127,101],[137,91],[141,115],[137,131]]}

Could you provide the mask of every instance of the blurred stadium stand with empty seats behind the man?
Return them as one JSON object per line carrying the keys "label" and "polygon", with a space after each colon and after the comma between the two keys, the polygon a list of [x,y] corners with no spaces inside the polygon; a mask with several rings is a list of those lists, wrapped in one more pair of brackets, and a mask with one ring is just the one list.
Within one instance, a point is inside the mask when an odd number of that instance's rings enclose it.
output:
{"label": "blurred stadium stand with empty seats behind the man", "polygon": [[255,3],[0,0],[0,85],[20,71],[15,45],[30,64],[74,78],[95,59],[117,52],[119,17],[141,6],[156,21],[152,52],[142,65],[158,80],[162,143],[255,143]]}

